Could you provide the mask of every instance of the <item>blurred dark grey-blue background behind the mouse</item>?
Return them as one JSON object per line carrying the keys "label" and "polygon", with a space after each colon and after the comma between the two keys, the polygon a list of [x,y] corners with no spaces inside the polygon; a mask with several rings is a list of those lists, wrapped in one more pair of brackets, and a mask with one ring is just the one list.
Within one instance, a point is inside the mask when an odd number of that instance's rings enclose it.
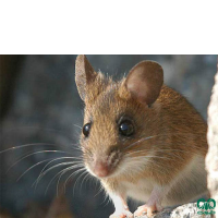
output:
{"label": "blurred dark grey-blue background behind the mouse", "polygon": [[[72,175],[65,193],[62,192],[65,180],[75,170],[63,174],[58,196],[57,180],[48,187],[52,178],[69,166],[51,169],[37,189],[33,186],[48,162],[44,160],[80,156],[80,152],[74,149],[83,124],[83,102],[74,82],[76,56],[0,56],[1,218],[102,218],[113,211],[105,194],[99,193],[97,180],[88,179],[86,174],[78,172]],[[96,71],[100,69],[117,78],[128,74],[142,60],[159,62],[165,71],[165,83],[183,94],[207,119],[217,56],[87,55],[87,58]],[[22,148],[1,153],[21,145]],[[43,152],[55,149],[70,154]],[[35,155],[31,155],[33,153]],[[57,159],[48,168],[63,161],[69,159]],[[76,182],[76,179],[80,180]]]}

